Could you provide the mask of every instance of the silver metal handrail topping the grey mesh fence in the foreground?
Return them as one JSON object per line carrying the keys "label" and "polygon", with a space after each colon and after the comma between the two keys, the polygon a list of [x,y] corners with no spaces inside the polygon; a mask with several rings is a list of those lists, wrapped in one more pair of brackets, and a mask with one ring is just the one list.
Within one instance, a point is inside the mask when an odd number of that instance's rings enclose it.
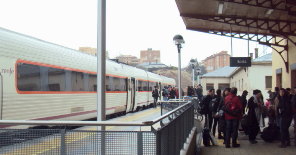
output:
{"label": "silver metal handrail topping the grey mesh fence in the foreground", "polygon": [[[169,101],[158,101],[169,102]],[[158,103],[157,102],[157,103]],[[6,125],[76,125],[76,126],[151,126],[165,117],[172,115],[176,111],[187,106],[189,102],[186,101],[170,101],[171,102],[185,102],[186,104],[168,112],[165,115],[159,116],[151,121],[58,121],[58,120],[0,120],[0,124]]]}

